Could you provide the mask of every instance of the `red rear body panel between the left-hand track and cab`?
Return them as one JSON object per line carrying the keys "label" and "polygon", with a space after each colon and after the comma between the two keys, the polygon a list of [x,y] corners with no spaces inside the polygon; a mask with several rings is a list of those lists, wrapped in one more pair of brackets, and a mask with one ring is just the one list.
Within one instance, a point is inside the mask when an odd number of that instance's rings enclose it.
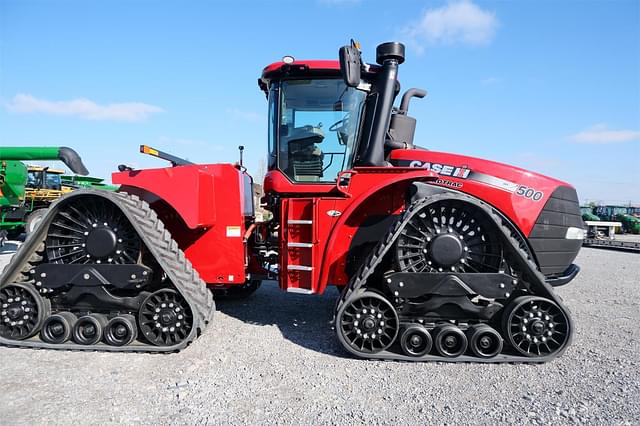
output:
{"label": "red rear body panel between the left-hand track and cab", "polygon": [[[231,164],[112,175],[114,183],[123,185],[121,190],[136,193],[152,205],[200,277],[210,284],[245,282],[246,223],[240,178],[241,172]],[[228,236],[229,227],[239,228],[239,236]]]}

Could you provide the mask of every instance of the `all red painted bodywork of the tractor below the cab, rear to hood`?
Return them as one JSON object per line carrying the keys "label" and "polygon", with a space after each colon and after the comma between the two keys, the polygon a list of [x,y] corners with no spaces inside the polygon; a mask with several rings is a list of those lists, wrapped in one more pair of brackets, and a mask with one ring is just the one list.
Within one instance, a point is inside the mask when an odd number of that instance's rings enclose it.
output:
{"label": "all red painted bodywork of the tractor below the cab, rear to hood", "polygon": [[[327,285],[347,284],[345,270],[353,238],[371,218],[400,214],[412,182],[434,185],[438,178],[460,183],[457,190],[475,196],[500,210],[528,235],[551,193],[565,182],[478,158],[425,150],[396,150],[392,161],[405,160],[467,167],[525,185],[543,193],[533,201],[472,179],[439,176],[416,167],[366,167],[350,171],[348,184],[293,183],[281,172],[269,172],[265,193],[280,195],[280,286],[322,293]],[[241,172],[230,164],[180,166],[115,173],[122,190],[141,195],[152,204],[200,276],[210,284],[239,284],[245,280],[247,247],[243,236],[248,223],[242,215]],[[289,225],[290,220],[312,224]],[[228,227],[239,227],[230,237]],[[312,247],[289,247],[288,243]],[[357,253],[364,259],[368,253]],[[353,256],[353,253],[351,253]],[[312,267],[290,271],[290,265]],[[253,268],[256,268],[253,262]]]}

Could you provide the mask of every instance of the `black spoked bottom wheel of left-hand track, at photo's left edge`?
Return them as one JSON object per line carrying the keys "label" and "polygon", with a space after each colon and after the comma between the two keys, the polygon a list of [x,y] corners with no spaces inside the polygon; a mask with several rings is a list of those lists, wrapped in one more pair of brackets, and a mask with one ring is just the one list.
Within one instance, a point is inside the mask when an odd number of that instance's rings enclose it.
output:
{"label": "black spoked bottom wheel of left-hand track, at photo's left edge", "polygon": [[15,283],[0,289],[0,336],[24,340],[40,331],[49,315],[49,301],[31,284]]}

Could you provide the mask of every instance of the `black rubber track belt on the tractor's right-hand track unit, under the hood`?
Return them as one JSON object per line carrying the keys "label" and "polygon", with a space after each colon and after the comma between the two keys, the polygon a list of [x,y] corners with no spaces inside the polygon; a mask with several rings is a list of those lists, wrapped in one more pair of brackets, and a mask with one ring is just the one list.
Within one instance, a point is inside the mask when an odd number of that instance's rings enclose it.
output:
{"label": "black rubber track belt on the tractor's right-hand track unit, under the hood", "polygon": [[[436,194],[427,198],[419,199],[412,202],[405,212],[398,218],[393,228],[387,233],[385,238],[381,240],[378,245],[371,251],[366,260],[362,263],[358,272],[353,276],[349,285],[344,289],[341,293],[341,296],[338,298],[338,302],[336,303],[336,308],[334,310],[334,318],[333,325],[336,328],[337,333],[337,324],[336,324],[336,315],[338,310],[342,307],[344,303],[350,303],[352,299],[354,299],[358,295],[358,290],[363,288],[367,284],[368,278],[373,274],[376,268],[382,262],[384,256],[389,252],[395,243],[396,239],[400,235],[400,232],[409,222],[409,220],[418,212],[422,210],[422,208],[436,203],[442,200],[458,200],[462,202],[466,202],[472,204],[480,209],[482,209],[487,216],[493,220],[494,225],[500,230],[500,236],[503,240],[503,243],[507,248],[506,256],[511,257],[510,260],[511,265],[516,266],[518,271],[521,272],[522,276],[520,277],[520,281],[524,281],[528,283],[531,287],[531,294],[535,296],[543,296],[548,299],[553,300],[558,304],[559,308],[564,311],[564,314],[568,319],[568,333],[569,337],[567,338],[567,342],[565,345],[555,354],[544,357],[526,357],[526,356],[518,356],[518,355],[508,355],[508,354],[499,354],[490,359],[478,358],[474,356],[461,355],[456,358],[447,358],[437,355],[424,355],[421,357],[410,357],[404,354],[398,354],[390,351],[381,351],[375,354],[363,354],[352,350],[351,347],[345,345],[343,343],[343,347],[353,355],[356,355],[361,358],[367,359],[383,359],[383,360],[399,360],[399,361],[438,361],[438,362],[483,362],[483,363],[501,363],[501,362],[515,362],[515,363],[543,363],[550,361],[558,356],[561,356],[564,351],[571,345],[571,341],[573,338],[573,324],[571,321],[571,315],[567,307],[562,304],[561,299],[557,296],[553,288],[547,284],[545,281],[545,277],[538,271],[537,265],[533,261],[533,259],[529,256],[529,254],[521,247],[518,240],[512,236],[512,228],[505,222],[505,219],[501,214],[495,211],[490,205],[478,200],[477,198],[473,198],[466,194],[462,194],[459,192],[447,192]],[[498,330],[500,331],[500,330]],[[397,337],[399,338],[399,336]],[[338,339],[340,340],[340,339]],[[342,342],[341,342],[342,343]],[[505,342],[506,343],[506,342]],[[506,345],[505,345],[506,347]]]}

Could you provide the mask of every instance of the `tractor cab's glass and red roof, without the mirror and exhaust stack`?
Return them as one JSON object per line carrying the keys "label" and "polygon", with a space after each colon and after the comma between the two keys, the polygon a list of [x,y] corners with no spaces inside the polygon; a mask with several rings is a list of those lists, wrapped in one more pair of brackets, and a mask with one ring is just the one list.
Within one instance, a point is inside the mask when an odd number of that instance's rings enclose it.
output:
{"label": "tractor cab's glass and red roof, without the mirror and exhaust stack", "polygon": [[292,183],[331,183],[351,168],[366,93],[348,87],[337,61],[276,63],[265,69],[270,171]]}

